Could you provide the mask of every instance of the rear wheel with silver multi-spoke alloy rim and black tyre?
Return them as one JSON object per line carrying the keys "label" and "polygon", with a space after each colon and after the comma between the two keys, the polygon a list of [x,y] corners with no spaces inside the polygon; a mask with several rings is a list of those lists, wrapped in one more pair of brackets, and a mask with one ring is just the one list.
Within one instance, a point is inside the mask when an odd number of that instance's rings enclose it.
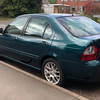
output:
{"label": "rear wheel with silver multi-spoke alloy rim and black tyre", "polygon": [[64,85],[65,78],[60,64],[54,58],[48,58],[42,65],[43,77],[50,83],[55,85]]}

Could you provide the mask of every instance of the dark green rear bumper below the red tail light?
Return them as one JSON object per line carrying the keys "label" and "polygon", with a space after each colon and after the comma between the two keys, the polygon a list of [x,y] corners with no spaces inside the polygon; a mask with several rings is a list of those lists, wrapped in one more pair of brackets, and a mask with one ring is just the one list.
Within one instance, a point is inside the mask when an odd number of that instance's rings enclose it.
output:
{"label": "dark green rear bumper below the red tail light", "polygon": [[70,62],[59,60],[65,76],[84,82],[96,82],[100,80],[100,61]]}

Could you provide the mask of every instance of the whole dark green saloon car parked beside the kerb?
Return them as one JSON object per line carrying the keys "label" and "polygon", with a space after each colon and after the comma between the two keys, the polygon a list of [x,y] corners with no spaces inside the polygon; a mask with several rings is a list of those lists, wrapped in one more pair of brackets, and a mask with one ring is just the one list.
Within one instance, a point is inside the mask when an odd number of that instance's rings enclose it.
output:
{"label": "whole dark green saloon car parked beside the kerb", "polygon": [[41,70],[52,84],[99,81],[100,24],[72,14],[21,15],[0,28],[0,55]]}

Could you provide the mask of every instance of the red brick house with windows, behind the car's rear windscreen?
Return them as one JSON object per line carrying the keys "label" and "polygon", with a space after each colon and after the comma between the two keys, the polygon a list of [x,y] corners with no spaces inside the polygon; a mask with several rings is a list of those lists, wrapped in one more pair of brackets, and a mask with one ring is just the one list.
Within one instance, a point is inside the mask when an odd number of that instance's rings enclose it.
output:
{"label": "red brick house with windows, behind the car's rear windscreen", "polygon": [[83,12],[84,6],[93,0],[57,0],[57,4],[70,5],[70,12]]}

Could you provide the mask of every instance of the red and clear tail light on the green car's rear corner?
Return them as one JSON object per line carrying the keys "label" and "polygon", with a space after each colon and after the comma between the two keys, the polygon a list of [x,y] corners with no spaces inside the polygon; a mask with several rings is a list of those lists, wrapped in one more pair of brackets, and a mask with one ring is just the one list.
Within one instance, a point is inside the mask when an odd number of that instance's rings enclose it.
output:
{"label": "red and clear tail light on the green car's rear corner", "polygon": [[97,59],[97,47],[90,46],[82,54],[81,61],[90,61]]}

